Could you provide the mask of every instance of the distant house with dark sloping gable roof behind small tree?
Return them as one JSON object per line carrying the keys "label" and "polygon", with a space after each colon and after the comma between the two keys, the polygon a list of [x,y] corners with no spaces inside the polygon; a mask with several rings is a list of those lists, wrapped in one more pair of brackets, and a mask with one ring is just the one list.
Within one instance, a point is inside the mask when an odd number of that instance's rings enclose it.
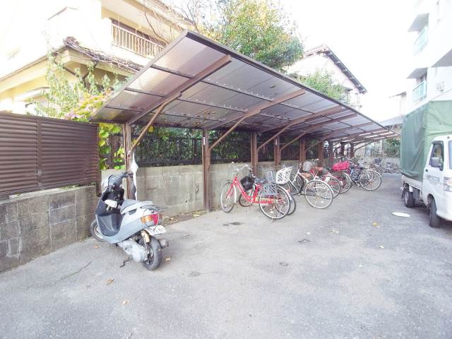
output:
{"label": "distant house with dark sloping gable roof behind small tree", "polygon": [[350,105],[358,110],[362,109],[361,97],[367,92],[366,88],[347,69],[347,66],[340,61],[330,47],[323,44],[309,49],[304,52],[302,59],[287,69],[289,73],[298,73],[301,76],[307,76],[317,70],[331,73],[333,81],[345,88]]}

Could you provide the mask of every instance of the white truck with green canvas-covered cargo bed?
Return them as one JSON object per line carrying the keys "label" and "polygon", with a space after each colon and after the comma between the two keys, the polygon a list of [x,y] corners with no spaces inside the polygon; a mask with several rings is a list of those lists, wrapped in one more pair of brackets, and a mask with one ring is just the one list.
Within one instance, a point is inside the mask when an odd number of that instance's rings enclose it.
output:
{"label": "white truck with green canvas-covered cargo bed", "polygon": [[412,208],[422,202],[430,226],[452,220],[452,105],[429,102],[403,121],[400,165],[402,197]]}

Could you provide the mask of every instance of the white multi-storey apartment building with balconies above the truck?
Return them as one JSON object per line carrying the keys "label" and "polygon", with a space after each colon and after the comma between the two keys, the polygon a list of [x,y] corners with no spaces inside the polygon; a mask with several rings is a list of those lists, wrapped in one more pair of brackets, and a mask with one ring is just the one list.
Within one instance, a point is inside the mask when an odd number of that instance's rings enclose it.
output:
{"label": "white multi-storey apartment building with balconies above the truck", "polygon": [[404,114],[430,101],[452,100],[452,0],[412,1],[408,32],[412,57]]}

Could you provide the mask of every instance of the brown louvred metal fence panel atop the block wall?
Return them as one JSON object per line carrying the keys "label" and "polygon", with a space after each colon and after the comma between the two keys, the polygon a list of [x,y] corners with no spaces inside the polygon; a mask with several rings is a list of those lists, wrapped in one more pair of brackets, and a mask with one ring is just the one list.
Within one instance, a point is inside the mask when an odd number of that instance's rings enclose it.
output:
{"label": "brown louvred metal fence panel atop the block wall", "polygon": [[0,196],[98,184],[97,125],[0,113]]}

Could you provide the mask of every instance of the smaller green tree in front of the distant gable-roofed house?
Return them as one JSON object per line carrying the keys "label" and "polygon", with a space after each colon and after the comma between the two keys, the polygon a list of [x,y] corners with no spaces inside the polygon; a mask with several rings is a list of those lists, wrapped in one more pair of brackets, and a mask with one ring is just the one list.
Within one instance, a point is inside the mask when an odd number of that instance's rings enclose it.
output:
{"label": "smaller green tree in front of the distant gable-roofed house", "polygon": [[334,83],[332,72],[318,69],[314,73],[310,73],[307,76],[300,76],[297,73],[292,73],[290,76],[295,78],[297,81],[304,83],[304,85],[307,85],[314,90],[318,90],[320,93],[328,95],[328,97],[333,97],[334,99],[348,104],[347,92],[343,86]]}

